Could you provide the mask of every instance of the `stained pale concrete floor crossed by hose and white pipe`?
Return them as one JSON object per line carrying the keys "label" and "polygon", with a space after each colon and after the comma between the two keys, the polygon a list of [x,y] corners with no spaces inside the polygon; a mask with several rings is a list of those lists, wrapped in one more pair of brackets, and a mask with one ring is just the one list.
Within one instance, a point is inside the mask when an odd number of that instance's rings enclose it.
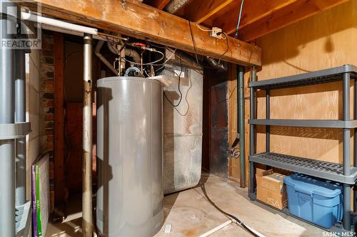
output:
{"label": "stained pale concrete floor crossed by hose and white pipe", "polygon": [[[272,212],[273,209],[263,204],[249,201],[246,189],[239,188],[238,184],[233,181],[212,174],[203,174],[201,181],[205,182],[208,196],[217,206],[237,216],[265,236],[323,236],[324,232],[320,228],[278,211]],[[81,204],[76,204],[76,201],[71,205],[69,209],[81,207]],[[199,186],[165,196],[164,218],[164,226],[155,237],[199,236],[228,220],[208,203]],[[164,227],[168,223],[172,225],[171,233],[164,233]],[[81,212],[71,214],[63,223],[49,224],[46,237],[81,236],[80,225]],[[243,228],[234,223],[211,236],[251,237]]]}

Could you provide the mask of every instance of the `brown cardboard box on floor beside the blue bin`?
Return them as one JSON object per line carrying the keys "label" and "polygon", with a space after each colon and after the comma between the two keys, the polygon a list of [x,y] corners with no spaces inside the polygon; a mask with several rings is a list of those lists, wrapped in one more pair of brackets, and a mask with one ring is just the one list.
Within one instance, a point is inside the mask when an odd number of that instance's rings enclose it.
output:
{"label": "brown cardboard box on floor beside the blue bin", "polygon": [[282,210],[288,204],[283,174],[256,169],[256,199]]}

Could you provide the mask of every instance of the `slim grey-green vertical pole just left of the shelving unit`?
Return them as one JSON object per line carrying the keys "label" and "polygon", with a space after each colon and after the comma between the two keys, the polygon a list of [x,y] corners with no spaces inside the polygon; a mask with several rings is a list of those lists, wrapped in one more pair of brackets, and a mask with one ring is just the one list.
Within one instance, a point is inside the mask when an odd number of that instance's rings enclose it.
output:
{"label": "slim grey-green vertical pole just left of the shelving unit", "polygon": [[237,95],[238,95],[238,132],[241,162],[241,187],[246,187],[246,128],[245,128],[245,103],[244,103],[244,67],[238,65],[237,78]]}

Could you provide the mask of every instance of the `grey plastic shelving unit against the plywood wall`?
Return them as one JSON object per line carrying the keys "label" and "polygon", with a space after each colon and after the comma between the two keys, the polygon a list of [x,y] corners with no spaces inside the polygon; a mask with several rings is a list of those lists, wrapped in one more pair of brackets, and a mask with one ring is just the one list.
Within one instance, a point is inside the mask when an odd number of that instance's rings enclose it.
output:
{"label": "grey plastic shelving unit against the plywood wall", "polygon": [[[313,177],[338,181],[343,184],[343,228],[342,231],[351,231],[351,187],[357,180],[357,139],[353,143],[353,164],[350,162],[350,135],[353,129],[357,137],[357,67],[343,65],[337,68],[319,70],[312,73],[303,73],[283,78],[256,81],[256,70],[251,73],[250,98],[251,119],[249,145],[249,197],[256,200],[256,185],[254,181],[254,164],[266,164],[271,167],[287,169],[292,172],[308,174]],[[354,80],[353,120],[350,118],[350,82]],[[343,120],[271,120],[270,119],[270,90],[292,88],[303,85],[343,82]],[[266,90],[266,119],[256,119],[256,90]],[[266,126],[266,152],[256,154],[256,125]],[[293,157],[286,154],[270,152],[270,126],[290,127],[328,127],[343,130],[343,164],[321,162],[303,157]],[[354,211],[357,211],[357,189],[354,191]],[[353,222],[353,221],[352,221]],[[352,223],[353,224],[353,223]],[[353,228],[353,227],[352,227]],[[336,226],[334,227],[336,229]]]}

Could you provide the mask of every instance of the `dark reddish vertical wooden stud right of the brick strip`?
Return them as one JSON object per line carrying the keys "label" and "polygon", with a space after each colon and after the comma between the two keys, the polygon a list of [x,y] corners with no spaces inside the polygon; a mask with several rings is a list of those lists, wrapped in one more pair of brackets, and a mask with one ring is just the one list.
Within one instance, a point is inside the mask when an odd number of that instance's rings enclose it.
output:
{"label": "dark reddish vertical wooden stud right of the brick strip", "polygon": [[64,186],[64,36],[54,32],[54,185],[55,201],[65,200]]}

